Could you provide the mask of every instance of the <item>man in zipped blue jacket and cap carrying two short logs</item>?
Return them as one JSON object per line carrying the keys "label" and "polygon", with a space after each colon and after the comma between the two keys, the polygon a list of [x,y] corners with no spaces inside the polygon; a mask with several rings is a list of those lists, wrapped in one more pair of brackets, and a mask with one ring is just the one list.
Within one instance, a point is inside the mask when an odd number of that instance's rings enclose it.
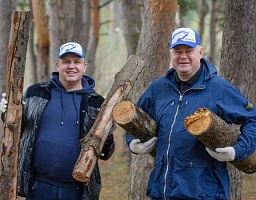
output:
{"label": "man in zipped blue jacket and cap carrying two short logs", "polygon": [[[171,38],[172,67],[153,81],[137,105],[158,124],[158,137],[145,143],[127,133],[133,153],[156,150],[147,195],[152,200],[222,199],[230,195],[227,162],[243,160],[256,147],[256,109],[203,58],[198,33],[176,29]],[[248,106],[251,105],[251,106]],[[211,151],[184,127],[184,119],[208,108],[227,123],[241,125],[237,143]]]}

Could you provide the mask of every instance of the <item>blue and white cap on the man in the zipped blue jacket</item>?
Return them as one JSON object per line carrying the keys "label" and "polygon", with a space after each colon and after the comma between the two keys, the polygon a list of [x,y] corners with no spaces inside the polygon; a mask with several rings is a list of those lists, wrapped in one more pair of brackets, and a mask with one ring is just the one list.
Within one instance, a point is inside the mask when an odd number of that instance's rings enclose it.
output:
{"label": "blue and white cap on the man in the zipped blue jacket", "polygon": [[187,45],[195,48],[200,44],[200,37],[195,30],[191,28],[178,28],[172,33],[170,49],[177,45]]}

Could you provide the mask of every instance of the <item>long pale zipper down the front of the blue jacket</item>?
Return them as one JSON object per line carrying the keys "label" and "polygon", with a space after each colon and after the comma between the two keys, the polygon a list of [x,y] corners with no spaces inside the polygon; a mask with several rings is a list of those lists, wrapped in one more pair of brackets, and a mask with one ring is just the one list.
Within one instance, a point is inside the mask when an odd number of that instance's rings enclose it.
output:
{"label": "long pale zipper down the front of the blue jacket", "polygon": [[165,171],[165,175],[164,175],[164,199],[165,200],[166,200],[167,174],[168,174],[168,170],[169,170],[169,164],[168,163],[169,163],[169,150],[170,150],[170,146],[171,146],[171,135],[172,135],[173,126],[176,122],[176,118],[177,118],[177,115],[178,115],[178,112],[179,112],[179,109],[180,109],[180,104],[181,104],[181,101],[182,101],[182,97],[183,97],[183,95],[180,94],[178,106],[177,106],[177,109],[176,109],[176,113],[174,115],[174,120],[173,120],[171,130],[170,130],[170,134],[169,134],[168,148],[167,148],[167,152],[166,152],[166,171]]}

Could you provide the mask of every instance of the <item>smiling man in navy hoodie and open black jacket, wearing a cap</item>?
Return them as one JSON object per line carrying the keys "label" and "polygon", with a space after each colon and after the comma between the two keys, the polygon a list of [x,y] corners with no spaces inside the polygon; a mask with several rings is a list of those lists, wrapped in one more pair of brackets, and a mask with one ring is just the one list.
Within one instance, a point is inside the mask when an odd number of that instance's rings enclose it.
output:
{"label": "smiling man in navy hoodie and open black jacket, wearing a cap", "polygon": [[[81,45],[63,44],[50,81],[34,84],[24,94],[17,189],[27,200],[99,199],[98,163],[88,185],[72,177],[79,140],[89,132],[104,101],[94,91],[94,80],[84,75],[86,67]],[[6,105],[3,98],[2,112]],[[110,133],[100,159],[109,159],[114,147]]]}

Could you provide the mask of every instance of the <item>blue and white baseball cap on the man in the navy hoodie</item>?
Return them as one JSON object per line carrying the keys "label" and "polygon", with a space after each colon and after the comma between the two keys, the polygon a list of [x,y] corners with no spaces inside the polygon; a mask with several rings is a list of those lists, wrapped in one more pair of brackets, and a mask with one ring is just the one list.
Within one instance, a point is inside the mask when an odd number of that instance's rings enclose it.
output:
{"label": "blue and white baseball cap on the man in the navy hoodie", "polygon": [[63,56],[66,53],[74,53],[78,56],[80,56],[81,58],[85,59],[85,52],[83,47],[75,42],[68,42],[65,43],[63,45],[61,45],[60,49],[59,49],[59,53],[58,53],[58,58],[60,58],[61,56]]}

